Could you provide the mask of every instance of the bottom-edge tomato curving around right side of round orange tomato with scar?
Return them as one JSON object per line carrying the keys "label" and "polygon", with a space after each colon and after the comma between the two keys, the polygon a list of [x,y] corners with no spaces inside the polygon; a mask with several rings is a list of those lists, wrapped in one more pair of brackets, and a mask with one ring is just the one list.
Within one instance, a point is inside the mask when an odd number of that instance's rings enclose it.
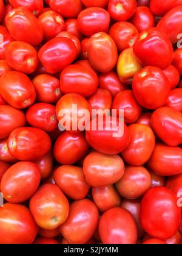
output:
{"label": "bottom-edge tomato curving around right side of round orange tomato with scar", "polygon": [[59,230],[70,243],[85,244],[95,233],[98,221],[99,212],[96,205],[88,199],[83,199],[70,205],[69,217]]}

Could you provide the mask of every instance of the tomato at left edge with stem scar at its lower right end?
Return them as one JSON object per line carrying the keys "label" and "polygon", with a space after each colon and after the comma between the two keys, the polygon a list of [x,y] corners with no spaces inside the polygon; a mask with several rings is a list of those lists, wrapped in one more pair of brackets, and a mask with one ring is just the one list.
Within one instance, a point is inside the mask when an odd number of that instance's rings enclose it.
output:
{"label": "tomato at left edge with stem scar at its lower right end", "polygon": [[35,88],[29,77],[18,71],[8,71],[0,79],[0,93],[15,108],[27,108],[35,102]]}

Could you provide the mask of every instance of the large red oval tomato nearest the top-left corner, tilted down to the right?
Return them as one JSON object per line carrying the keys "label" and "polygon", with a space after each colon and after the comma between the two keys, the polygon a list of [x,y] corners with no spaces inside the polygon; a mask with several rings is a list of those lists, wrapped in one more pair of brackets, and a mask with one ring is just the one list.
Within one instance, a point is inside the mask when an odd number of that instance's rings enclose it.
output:
{"label": "large red oval tomato nearest the top-left corner, tilted down to the right", "polygon": [[24,7],[10,11],[5,17],[5,24],[12,37],[17,41],[38,46],[43,40],[41,24],[33,13]]}

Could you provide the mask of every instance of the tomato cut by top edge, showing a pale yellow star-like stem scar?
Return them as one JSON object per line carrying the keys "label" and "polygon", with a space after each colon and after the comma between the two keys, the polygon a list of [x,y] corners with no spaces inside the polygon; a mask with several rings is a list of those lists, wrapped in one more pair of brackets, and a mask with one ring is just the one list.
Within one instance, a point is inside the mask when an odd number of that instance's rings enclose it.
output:
{"label": "tomato cut by top edge, showing a pale yellow star-like stem scar", "polygon": [[109,0],[110,16],[116,21],[127,21],[136,11],[136,0]]}

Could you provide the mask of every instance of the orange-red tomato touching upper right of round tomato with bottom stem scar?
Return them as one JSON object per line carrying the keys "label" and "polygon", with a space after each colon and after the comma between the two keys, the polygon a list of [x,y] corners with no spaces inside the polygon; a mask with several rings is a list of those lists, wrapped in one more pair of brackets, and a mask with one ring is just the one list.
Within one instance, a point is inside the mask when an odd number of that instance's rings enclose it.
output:
{"label": "orange-red tomato touching upper right of round tomato with bottom stem scar", "polygon": [[63,193],[73,200],[84,199],[89,193],[90,186],[86,182],[83,168],[62,165],[55,170],[54,180]]}

